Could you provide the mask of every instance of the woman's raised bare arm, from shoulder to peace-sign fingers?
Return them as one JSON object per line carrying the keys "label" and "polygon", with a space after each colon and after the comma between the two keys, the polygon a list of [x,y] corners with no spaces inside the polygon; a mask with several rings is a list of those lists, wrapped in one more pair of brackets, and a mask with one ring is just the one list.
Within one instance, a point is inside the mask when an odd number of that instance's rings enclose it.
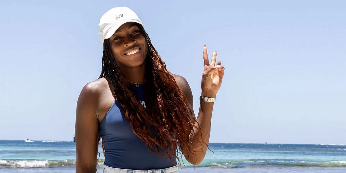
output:
{"label": "woman's raised bare arm, from shoulder to peace-sign fingers", "polygon": [[[203,47],[203,61],[204,61],[204,68],[203,68],[203,74],[202,74],[202,82],[201,82],[201,89],[202,93],[201,95],[205,97],[215,98],[217,91],[220,89],[222,79],[224,77],[225,67],[221,66],[221,62],[216,62],[216,51],[213,52],[213,55],[211,57],[211,63],[209,63],[208,53],[207,53],[207,46],[204,45]],[[181,76],[175,75],[176,83],[179,85],[180,89],[183,91],[183,93],[188,97],[189,99],[189,107],[192,110],[192,115],[190,115],[191,118],[195,117],[193,112],[193,97],[191,88],[188,84],[188,82]],[[198,111],[198,117],[197,122],[195,122],[195,126],[201,128],[201,131],[199,131],[197,128],[193,128],[192,132],[195,134],[195,136],[190,135],[190,140],[192,142],[191,149],[193,151],[189,151],[188,148],[182,148],[182,152],[190,163],[194,165],[198,165],[203,161],[204,156],[207,152],[207,145],[209,144],[209,137],[210,137],[210,126],[211,126],[211,113],[213,111],[213,102],[200,102],[200,107]],[[203,138],[203,140],[202,140]],[[202,144],[200,144],[199,141],[202,141]],[[179,141],[178,141],[179,142]],[[206,144],[204,144],[204,143]],[[201,146],[202,145],[202,146]]]}

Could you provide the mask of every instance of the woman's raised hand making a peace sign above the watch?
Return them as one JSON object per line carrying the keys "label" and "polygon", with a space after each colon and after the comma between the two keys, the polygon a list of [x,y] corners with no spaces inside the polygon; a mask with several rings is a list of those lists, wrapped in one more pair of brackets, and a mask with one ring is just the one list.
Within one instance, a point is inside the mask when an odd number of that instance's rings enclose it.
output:
{"label": "woman's raised hand making a peace sign above the watch", "polygon": [[204,68],[201,84],[202,96],[214,98],[216,96],[217,91],[220,89],[222,78],[224,77],[225,67],[221,66],[221,61],[216,62],[216,55],[216,51],[213,52],[213,55],[211,57],[211,63],[209,64],[207,46],[204,45]]}

